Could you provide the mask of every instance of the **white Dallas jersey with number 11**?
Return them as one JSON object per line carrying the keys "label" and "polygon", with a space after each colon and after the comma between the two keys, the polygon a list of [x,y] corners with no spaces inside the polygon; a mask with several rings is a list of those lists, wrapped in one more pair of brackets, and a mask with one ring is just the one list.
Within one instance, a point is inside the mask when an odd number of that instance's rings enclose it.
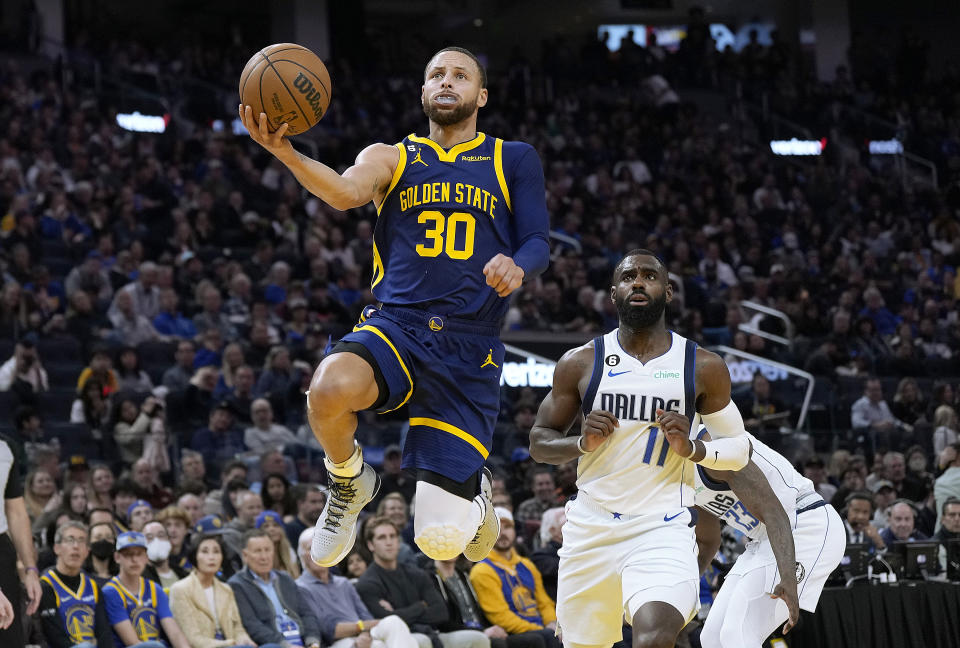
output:
{"label": "white Dallas jersey with number 11", "polygon": [[623,350],[615,329],[594,340],[583,415],[606,410],[620,427],[580,457],[577,487],[609,511],[633,515],[693,505],[694,464],[670,451],[657,409],[680,412],[699,428],[694,387],[697,345],[670,332],[670,349],[646,364]]}

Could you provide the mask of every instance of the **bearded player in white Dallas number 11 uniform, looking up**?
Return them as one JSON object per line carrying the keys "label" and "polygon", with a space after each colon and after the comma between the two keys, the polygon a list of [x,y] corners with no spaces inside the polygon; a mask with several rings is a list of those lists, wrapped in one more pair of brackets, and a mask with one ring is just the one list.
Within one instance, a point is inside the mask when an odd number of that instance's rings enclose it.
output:
{"label": "bearded player in white Dallas number 11 uniform, looking up", "polygon": [[[624,615],[634,648],[672,648],[699,599],[691,461],[722,470],[749,461],[727,367],[667,330],[672,298],[663,262],[628,253],[611,288],[619,328],[563,356],[530,432],[535,460],[579,457],[557,588],[567,648],[619,641]],[[581,411],[580,435],[567,436]],[[670,412],[702,420],[713,439],[691,441],[697,428]]]}

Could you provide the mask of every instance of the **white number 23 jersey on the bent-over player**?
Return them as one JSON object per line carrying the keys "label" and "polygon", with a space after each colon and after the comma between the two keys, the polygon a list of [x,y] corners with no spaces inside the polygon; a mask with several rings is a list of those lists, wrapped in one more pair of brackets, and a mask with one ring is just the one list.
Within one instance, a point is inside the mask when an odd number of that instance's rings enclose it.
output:
{"label": "white number 23 jersey on the bent-over player", "polygon": [[[702,430],[697,438],[702,437],[705,431]],[[797,512],[818,504],[823,505],[823,498],[817,493],[813,482],[798,473],[786,457],[764,445],[752,434],[747,435],[753,444],[753,463],[757,464],[763,476],[770,482],[770,488],[787,512],[790,528],[795,529]],[[766,525],[747,510],[726,482],[710,479],[703,466],[697,466],[696,473],[697,506],[721,518],[751,540],[767,537]]]}

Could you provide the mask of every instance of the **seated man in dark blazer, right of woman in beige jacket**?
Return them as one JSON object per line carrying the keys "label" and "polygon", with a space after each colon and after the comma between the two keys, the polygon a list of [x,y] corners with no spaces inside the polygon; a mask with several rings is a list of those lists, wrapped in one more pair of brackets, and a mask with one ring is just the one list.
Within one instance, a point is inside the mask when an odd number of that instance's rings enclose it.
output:
{"label": "seated man in dark blazer, right of woman in beige jacket", "polygon": [[273,569],[273,541],[266,531],[243,536],[243,569],[228,581],[247,634],[258,645],[287,642],[320,648],[320,624],[290,575]]}

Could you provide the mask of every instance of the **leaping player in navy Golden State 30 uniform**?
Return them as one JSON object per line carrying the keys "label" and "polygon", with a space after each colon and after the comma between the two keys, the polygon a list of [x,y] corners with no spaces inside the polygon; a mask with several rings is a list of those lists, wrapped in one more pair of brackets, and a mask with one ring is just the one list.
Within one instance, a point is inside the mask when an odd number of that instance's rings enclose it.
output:
{"label": "leaping player in navy Golden State 30 uniform", "polygon": [[311,193],[340,210],[373,202],[373,281],[379,308],[320,363],[307,393],[310,426],[326,452],[330,498],[311,557],[337,564],[353,547],[360,510],[379,488],[354,439],[357,412],[407,405],[403,466],[417,476],[415,541],[430,558],[486,557],[499,535],[482,471],[500,402],[500,322],[508,299],[549,260],[543,170],[536,151],[477,131],[486,72],[470,52],[427,64],[428,137],[373,144],[338,174],[241,119]]}

